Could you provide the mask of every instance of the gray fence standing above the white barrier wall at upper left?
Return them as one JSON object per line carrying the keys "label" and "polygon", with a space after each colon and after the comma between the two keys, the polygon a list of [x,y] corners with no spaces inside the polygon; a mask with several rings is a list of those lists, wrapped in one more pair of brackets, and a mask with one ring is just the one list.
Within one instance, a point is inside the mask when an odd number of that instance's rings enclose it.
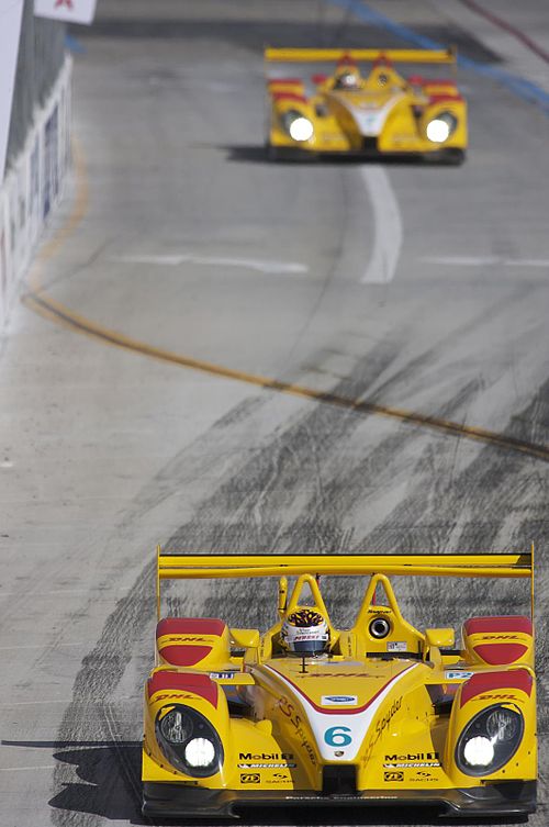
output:
{"label": "gray fence standing above the white barrier wall at upper left", "polygon": [[65,23],[34,16],[25,0],[8,141],[7,170],[23,148],[33,114],[44,105],[65,60]]}

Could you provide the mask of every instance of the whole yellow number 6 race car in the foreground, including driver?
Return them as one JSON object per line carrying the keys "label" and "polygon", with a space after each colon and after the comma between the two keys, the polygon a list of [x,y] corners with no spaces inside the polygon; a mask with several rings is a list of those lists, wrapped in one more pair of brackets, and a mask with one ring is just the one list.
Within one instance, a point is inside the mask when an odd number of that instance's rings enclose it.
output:
{"label": "whole yellow number 6 race car in the foreground, including driver", "polygon": [[[370,575],[351,628],[330,622],[325,574]],[[158,612],[165,579],[279,577],[279,621],[264,634],[212,618],[158,622],[144,814],[381,803],[469,817],[534,812],[531,618],[470,617],[453,648],[453,629],[421,632],[404,619],[389,574],[533,582],[533,554],[159,552]]]}

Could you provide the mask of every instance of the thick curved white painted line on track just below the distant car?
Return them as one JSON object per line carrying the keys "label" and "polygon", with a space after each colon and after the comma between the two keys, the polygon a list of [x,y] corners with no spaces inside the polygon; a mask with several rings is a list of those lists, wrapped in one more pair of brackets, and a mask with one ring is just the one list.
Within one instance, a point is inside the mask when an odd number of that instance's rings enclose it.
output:
{"label": "thick curved white painted line on track just below the distant car", "polygon": [[402,219],[389,176],[382,166],[360,170],[373,210],[373,249],[362,284],[386,284],[393,280],[402,247]]}

